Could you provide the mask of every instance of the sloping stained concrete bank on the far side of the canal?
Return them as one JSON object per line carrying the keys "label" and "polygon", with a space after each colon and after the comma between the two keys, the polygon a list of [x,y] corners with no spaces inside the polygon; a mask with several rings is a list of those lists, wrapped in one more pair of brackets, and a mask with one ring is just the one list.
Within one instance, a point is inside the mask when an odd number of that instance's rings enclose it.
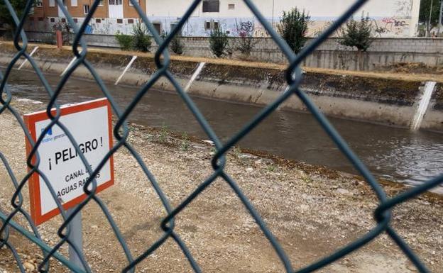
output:
{"label": "sloping stained concrete bank on the far side of the canal", "polygon": [[[31,49],[32,47],[30,51]],[[8,64],[15,53],[12,45],[0,45],[0,63]],[[131,55],[126,54],[127,52],[89,50],[87,60],[104,81],[114,84],[132,59]],[[43,71],[61,73],[71,62],[72,52],[42,46],[33,57]],[[207,63],[202,66],[202,61]],[[190,84],[190,79],[199,66],[202,66],[201,71],[194,75],[195,81]],[[26,67],[29,65],[25,65],[23,69]],[[140,86],[150,79],[155,70],[151,55],[138,54],[120,83]],[[192,60],[182,57],[171,60],[170,71],[183,88],[190,85],[190,94],[212,99],[266,105],[275,101],[287,88],[284,66],[265,63]],[[74,75],[92,78],[83,66],[78,67]],[[364,73],[353,75],[340,74],[337,71],[308,70],[304,73],[301,88],[328,116],[410,127],[425,94],[425,84],[421,80],[394,79],[373,74],[364,76]],[[175,91],[165,78],[158,80],[154,87]],[[443,84],[438,82],[434,89],[419,128],[443,130]],[[296,96],[290,97],[281,108],[306,111]]]}

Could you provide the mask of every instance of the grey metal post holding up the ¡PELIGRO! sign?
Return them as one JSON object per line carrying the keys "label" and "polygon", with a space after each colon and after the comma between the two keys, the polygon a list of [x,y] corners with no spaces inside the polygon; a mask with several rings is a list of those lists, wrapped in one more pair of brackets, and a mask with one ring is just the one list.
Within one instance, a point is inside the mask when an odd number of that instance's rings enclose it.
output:
{"label": "grey metal post holding up the \u00a1PELIGRO! sign", "polygon": [[[76,207],[68,209],[67,216],[69,217],[75,210]],[[83,234],[82,234],[82,211],[79,211],[77,215],[72,218],[72,221],[70,222],[70,234],[68,236],[70,242],[77,247],[77,250],[83,253]],[[84,269],[82,260],[80,260],[80,257],[77,255],[77,252],[75,252],[74,247],[69,245],[69,257],[70,262],[72,264],[75,264],[77,267]]]}

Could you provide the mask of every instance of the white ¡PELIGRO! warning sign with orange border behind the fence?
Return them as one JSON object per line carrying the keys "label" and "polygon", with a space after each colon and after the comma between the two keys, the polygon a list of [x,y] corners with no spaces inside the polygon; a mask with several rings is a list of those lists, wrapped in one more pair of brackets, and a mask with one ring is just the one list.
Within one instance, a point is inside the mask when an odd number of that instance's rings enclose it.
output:
{"label": "white \u00a1PELIGRO! warning sign with orange border behind the fence", "polygon": [[[70,131],[91,169],[94,170],[112,147],[109,101],[107,99],[87,101],[82,104],[62,106],[60,110],[60,123]],[[55,115],[55,110],[53,113]],[[25,115],[24,121],[34,142],[50,123],[46,111]],[[26,152],[27,155],[31,152],[31,144],[28,141],[26,141]],[[59,126],[53,126],[45,134],[38,147],[38,155],[40,156],[38,169],[48,179],[63,208],[72,208],[80,204],[87,197],[83,186],[89,179],[89,173],[80,159],[79,152]],[[112,157],[95,178],[97,192],[114,184]],[[92,189],[92,184],[89,189]],[[34,173],[29,181],[29,192],[31,217],[36,225],[60,213],[48,186],[37,173]]]}

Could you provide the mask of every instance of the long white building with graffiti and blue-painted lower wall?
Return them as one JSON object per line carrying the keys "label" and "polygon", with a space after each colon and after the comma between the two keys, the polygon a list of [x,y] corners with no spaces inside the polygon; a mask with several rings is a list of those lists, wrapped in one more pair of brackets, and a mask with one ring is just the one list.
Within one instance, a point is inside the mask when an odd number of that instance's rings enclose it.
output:
{"label": "long white building with graffiti and blue-painted lower wall", "polygon": [[[146,14],[155,27],[169,32],[192,3],[191,0],[146,0]],[[280,21],[283,11],[297,7],[311,16],[309,35],[315,36],[336,20],[355,0],[255,0],[253,3],[270,23]],[[371,18],[374,32],[380,37],[415,36],[420,0],[369,0],[354,16]],[[247,31],[266,36],[266,31],[242,0],[204,0],[192,13],[182,35],[206,36],[213,28],[222,28],[229,35]]]}

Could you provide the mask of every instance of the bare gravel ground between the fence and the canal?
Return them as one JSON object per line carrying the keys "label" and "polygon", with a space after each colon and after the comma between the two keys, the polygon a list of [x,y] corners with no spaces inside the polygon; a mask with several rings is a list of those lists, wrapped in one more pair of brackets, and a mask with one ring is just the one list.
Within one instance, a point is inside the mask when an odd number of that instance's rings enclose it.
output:
{"label": "bare gravel ground between the fence and the canal", "polygon": [[[41,109],[32,101],[13,101],[21,113]],[[24,135],[9,113],[0,115],[0,151],[18,178],[26,172]],[[131,125],[129,143],[136,148],[158,183],[177,206],[212,172],[209,143],[166,130]],[[99,194],[119,225],[133,256],[141,255],[162,235],[165,210],[136,160],[124,149],[114,155],[116,184]],[[366,233],[374,225],[376,197],[351,174],[303,165],[239,148],[229,152],[226,173],[278,238],[297,269],[315,262]],[[2,211],[10,211],[13,187],[1,167]],[[389,195],[406,188],[383,184]],[[23,189],[28,208],[28,189]],[[435,194],[401,204],[391,225],[405,238],[432,272],[443,272],[443,199]],[[94,272],[119,272],[127,264],[124,253],[97,204],[82,213],[84,253]],[[16,218],[18,223],[23,219]],[[54,245],[60,217],[38,227],[43,240]],[[217,179],[176,218],[175,231],[190,248],[203,272],[283,272],[277,255],[255,221],[226,182]],[[18,233],[11,235],[28,271],[42,257]],[[67,247],[62,247],[66,254]],[[52,262],[54,272],[67,272]],[[17,272],[8,250],[0,250],[0,272]],[[191,272],[173,240],[167,240],[141,262],[137,272]],[[415,272],[410,262],[385,235],[335,262],[321,272]]]}

